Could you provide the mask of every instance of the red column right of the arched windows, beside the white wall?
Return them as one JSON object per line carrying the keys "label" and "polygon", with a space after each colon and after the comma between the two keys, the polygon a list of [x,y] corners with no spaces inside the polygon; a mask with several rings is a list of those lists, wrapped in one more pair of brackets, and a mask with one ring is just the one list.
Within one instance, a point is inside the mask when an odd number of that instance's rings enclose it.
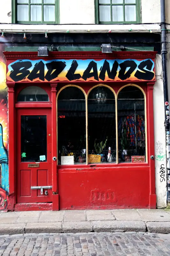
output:
{"label": "red column right of the arched windows, beside the white wall", "polygon": [[150,165],[150,208],[156,208],[155,192],[155,159],[154,155],[154,120],[153,120],[153,82],[147,83],[147,133],[148,133],[148,163]]}

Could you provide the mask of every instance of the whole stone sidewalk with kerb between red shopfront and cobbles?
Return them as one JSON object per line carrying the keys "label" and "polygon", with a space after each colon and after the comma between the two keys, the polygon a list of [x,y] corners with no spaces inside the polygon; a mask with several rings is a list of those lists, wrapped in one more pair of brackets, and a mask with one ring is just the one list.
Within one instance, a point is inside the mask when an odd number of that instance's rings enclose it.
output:
{"label": "whole stone sidewalk with kerb between red shopfront and cobbles", "polygon": [[0,235],[25,233],[170,233],[170,210],[0,212]]}

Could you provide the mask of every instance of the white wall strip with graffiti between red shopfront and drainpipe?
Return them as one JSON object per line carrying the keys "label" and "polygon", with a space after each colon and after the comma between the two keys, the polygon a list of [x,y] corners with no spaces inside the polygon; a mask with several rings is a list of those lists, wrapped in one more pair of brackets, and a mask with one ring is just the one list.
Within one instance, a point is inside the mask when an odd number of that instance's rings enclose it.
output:
{"label": "white wall strip with graffiti between red shopfront and drainpipe", "polygon": [[157,54],[155,60],[156,83],[153,89],[154,106],[154,140],[155,140],[155,180],[157,207],[166,207],[166,174],[165,180],[160,177],[160,168],[166,171],[166,143],[164,126],[164,94],[162,81],[161,55]]}

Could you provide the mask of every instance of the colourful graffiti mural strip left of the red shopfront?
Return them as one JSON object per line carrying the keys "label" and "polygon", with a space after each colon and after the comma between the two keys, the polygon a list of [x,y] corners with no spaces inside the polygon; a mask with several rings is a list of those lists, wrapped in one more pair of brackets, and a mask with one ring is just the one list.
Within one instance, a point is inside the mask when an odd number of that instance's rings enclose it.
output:
{"label": "colourful graffiti mural strip left of the red shopfront", "polygon": [[[2,39],[1,39],[2,40]],[[0,211],[6,211],[9,193],[8,107],[4,44],[0,44]]]}

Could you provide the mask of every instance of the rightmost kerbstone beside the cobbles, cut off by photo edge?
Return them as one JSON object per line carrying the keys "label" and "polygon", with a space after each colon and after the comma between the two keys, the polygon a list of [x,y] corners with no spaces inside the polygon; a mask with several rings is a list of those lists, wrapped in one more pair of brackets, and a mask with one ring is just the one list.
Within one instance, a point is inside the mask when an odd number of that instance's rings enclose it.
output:
{"label": "rightmost kerbstone beside the cobbles, cut off by photo edge", "polygon": [[170,221],[153,221],[146,222],[146,227],[151,233],[170,233]]}

